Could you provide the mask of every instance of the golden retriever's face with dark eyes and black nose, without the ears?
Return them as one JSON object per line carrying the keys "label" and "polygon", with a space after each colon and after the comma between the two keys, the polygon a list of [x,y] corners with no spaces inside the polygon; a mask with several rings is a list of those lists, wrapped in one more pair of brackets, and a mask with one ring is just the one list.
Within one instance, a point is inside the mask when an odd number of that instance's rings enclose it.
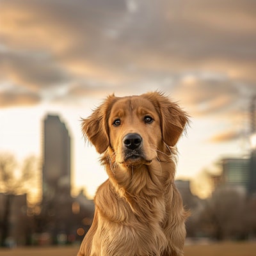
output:
{"label": "golden retriever's face with dark eyes and black nose, without the ears", "polygon": [[161,125],[156,108],[143,97],[124,97],[113,104],[109,141],[120,164],[150,163],[157,157]]}

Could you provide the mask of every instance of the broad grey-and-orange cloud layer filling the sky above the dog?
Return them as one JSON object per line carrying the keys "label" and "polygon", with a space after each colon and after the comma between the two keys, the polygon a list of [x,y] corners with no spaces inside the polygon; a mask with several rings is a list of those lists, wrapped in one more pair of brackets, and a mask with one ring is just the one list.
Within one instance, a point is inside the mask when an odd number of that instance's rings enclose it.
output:
{"label": "broad grey-and-orange cloud layer filling the sky above the dog", "polygon": [[[250,0],[4,0],[0,84],[29,88],[38,99],[52,93],[52,100],[158,87],[198,115],[223,111],[236,103],[237,81],[255,90],[255,6]],[[225,79],[205,79],[210,73]]]}

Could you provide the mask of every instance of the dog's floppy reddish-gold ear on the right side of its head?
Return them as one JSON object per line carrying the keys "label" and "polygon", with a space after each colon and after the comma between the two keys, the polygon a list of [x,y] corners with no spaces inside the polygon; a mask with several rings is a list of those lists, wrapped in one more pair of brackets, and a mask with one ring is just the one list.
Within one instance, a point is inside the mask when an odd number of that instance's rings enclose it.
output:
{"label": "dog's floppy reddish-gold ear on the right side of its head", "polygon": [[164,142],[168,146],[175,146],[189,122],[188,115],[180,109],[178,104],[170,101],[163,93],[152,92],[145,95],[154,104],[161,117]]}

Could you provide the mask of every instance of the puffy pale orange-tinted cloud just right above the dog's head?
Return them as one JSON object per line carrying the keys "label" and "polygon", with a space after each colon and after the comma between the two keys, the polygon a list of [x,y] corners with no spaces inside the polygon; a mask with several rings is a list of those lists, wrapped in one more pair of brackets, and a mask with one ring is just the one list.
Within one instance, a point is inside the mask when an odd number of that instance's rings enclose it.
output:
{"label": "puffy pale orange-tinted cloud just right above the dog's head", "polygon": [[173,95],[199,116],[228,112],[244,100],[235,81],[209,72],[181,74],[173,86]]}

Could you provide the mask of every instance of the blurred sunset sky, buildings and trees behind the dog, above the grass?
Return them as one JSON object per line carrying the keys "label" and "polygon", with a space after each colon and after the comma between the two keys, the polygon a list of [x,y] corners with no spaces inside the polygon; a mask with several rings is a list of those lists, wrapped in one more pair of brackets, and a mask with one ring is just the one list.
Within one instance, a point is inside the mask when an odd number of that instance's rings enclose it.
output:
{"label": "blurred sunset sky, buildings and trees behind the dog, above the grass", "polygon": [[191,116],[188,242],[256,237],[256,2],[0,0],[0,244],[79,243],[107,179],[81,118],[160,90]]}

